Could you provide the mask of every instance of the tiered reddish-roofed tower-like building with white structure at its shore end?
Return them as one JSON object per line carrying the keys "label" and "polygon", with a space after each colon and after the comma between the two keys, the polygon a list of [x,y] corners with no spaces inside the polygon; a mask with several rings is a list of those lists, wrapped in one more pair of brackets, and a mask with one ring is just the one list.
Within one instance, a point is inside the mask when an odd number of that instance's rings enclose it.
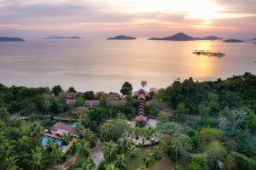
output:
{"label": "tiered reddish-roofed tower-like building with white structure at its shore end", "polygon": [[138,108],[135,122],[137,126],[145,126],[148,123],[148,116],[145,114],[146,99],[149,97],[149,88],[147,82],[141,82],[141,86],[134,92],[134,98],[137,99]]}

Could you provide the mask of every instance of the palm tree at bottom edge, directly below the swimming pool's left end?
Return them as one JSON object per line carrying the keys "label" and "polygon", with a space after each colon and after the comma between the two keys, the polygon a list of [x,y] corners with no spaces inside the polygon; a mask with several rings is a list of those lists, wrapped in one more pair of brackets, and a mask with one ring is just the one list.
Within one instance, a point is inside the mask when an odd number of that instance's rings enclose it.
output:
{"label": "palm tree at bottom edge, directly below the swimming pool's left end", "polygon": [[30,166],[32,170],[46,169],[45,156],[43,150],[40,147],[36,147],[32,150],[32,159],[30,161]]}

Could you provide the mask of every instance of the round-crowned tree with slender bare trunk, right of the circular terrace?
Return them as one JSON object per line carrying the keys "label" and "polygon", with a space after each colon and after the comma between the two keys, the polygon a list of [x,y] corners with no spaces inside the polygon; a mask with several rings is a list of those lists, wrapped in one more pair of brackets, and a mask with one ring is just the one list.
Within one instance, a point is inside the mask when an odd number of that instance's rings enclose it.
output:
{"label": "round-crowned tree with slender bare trunk, right of the circular terrace", "polygon": [[171,142],[173,149],[175,150],[175,162],[177,164],[177,152],[191,150],[191,139],[189,136],[183,133],[174,133],[172,135]]}

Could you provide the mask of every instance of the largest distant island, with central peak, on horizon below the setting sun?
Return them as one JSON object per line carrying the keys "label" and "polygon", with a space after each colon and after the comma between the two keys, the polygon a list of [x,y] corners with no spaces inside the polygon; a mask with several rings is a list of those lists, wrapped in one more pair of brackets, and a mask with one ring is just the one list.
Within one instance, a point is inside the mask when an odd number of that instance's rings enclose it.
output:
{"label": "largest distant island, with central peak, on horizon below the setting sun", "polygon": [[177,33],[171,37],[150,37],[149,40],[166,40],[166,41],[195,41],[195,40],[219,40],[222,38],[215,36],[208,37],[190,37],[183,32]]}

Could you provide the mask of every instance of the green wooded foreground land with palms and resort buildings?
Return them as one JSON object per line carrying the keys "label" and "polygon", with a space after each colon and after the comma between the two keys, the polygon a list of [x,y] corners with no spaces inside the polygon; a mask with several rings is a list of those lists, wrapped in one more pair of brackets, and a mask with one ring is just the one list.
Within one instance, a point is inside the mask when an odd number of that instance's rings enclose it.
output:
{"label": "green wooded foreground land with palms and resort buildings", "polygon": [[121,95],[0,84],[0,169],[256,169],[255,75],[145,84]]}

